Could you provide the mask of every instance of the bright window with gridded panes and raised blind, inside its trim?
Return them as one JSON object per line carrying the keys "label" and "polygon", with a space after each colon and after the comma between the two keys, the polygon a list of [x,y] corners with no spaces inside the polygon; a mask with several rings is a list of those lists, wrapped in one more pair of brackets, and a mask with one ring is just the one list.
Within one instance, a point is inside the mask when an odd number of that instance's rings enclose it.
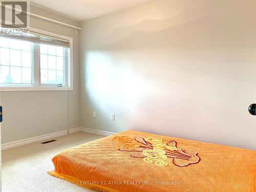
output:
{"label": "bright window with gridded panes and raised blind, inside its trim", "polygon": [[0,91],[72,88],[72,39],[62,37],[34,32],[0,36]]}

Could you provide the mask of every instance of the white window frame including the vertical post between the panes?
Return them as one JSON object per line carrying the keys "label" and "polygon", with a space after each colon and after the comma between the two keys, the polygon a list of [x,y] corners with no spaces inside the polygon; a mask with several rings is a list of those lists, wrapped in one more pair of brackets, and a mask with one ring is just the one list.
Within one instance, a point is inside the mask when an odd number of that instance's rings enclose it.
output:
{"label": "white window frame including the vertical post between the panes", "polygon": [[[0,28],[1,29],[1,28]],[[57,33],[36,29],[36,28],[29,28],[30,31],[41,33],[44,35],[52,36],[53,38],[61,38],[69,41],[70,48],[69,54],[65,53],[66,57],[66,69],[65,69],[65,86],[57,87],[57,84],[43,84],[40,83],[40,54],[39,46],[33,45],[32,50],[32,83],[31,84],[22,84],[22,83],[10,83],[10,84],[3,84],[0,83],[0,91],[8,92],[8,91],[67,91],[73,90],[73,38],[68,37],[65,35],[60,35]],[[37,60],[39,59],[39,60]]]}

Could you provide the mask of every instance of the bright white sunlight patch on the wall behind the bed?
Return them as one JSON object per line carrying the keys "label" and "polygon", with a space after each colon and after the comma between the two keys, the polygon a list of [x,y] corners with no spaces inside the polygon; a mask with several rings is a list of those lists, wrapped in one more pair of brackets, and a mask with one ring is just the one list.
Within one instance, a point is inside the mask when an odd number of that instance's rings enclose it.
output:
{"label": "bright white sunlight patch on the wall behind the bed", "polygon": [[114,56],[100,51],[87,53],[87,94],[102,112],[120,108],[120,105],[132,110],[151,89],[146,80],[125,62],[115,62]]}

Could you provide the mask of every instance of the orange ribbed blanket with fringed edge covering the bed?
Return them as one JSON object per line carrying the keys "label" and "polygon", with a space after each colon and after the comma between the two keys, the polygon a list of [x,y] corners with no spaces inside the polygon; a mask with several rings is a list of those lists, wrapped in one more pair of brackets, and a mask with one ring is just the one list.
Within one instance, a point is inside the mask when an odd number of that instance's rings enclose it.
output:
{"label": "orange ribbed blanket with fringed edge covering the bed", "polygon": [[256,152],[125,131],[62,151],[50,175],[98,191],[256,191]]}

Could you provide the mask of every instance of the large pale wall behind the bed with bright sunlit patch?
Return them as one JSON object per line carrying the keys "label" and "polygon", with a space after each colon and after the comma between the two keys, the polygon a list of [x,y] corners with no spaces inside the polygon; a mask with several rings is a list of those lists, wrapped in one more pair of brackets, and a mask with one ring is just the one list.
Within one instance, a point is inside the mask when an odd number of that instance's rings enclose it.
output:
{"label": "large pale wall behind the bed with bright sunlit patch", "polygon": [[83,22],[80,126],[255,150],[255,10],[161,0]]}

